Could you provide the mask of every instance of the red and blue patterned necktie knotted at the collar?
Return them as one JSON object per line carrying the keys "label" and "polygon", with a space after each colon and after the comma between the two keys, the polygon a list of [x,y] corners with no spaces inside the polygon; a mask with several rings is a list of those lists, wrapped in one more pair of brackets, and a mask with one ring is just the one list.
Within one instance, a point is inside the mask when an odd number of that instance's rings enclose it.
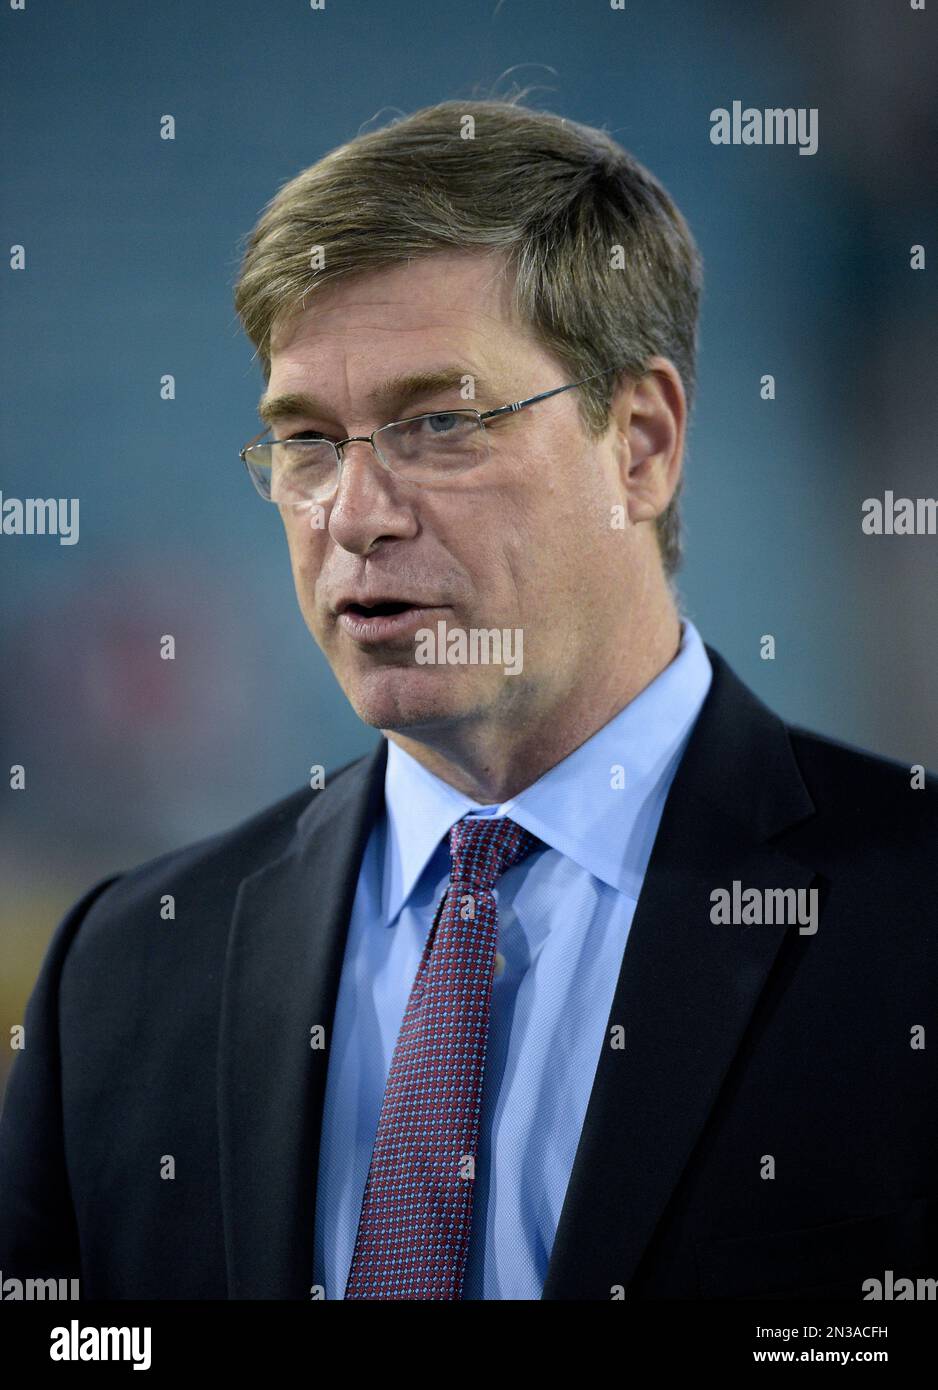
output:
{"label": "red and blue patterned necktie knotted at the collar", "polygon": [[468,1255],[496,878],[541,841],[507,817],[449,833],[449,888],[390,1061],[346,1298],[460,1298]]}

